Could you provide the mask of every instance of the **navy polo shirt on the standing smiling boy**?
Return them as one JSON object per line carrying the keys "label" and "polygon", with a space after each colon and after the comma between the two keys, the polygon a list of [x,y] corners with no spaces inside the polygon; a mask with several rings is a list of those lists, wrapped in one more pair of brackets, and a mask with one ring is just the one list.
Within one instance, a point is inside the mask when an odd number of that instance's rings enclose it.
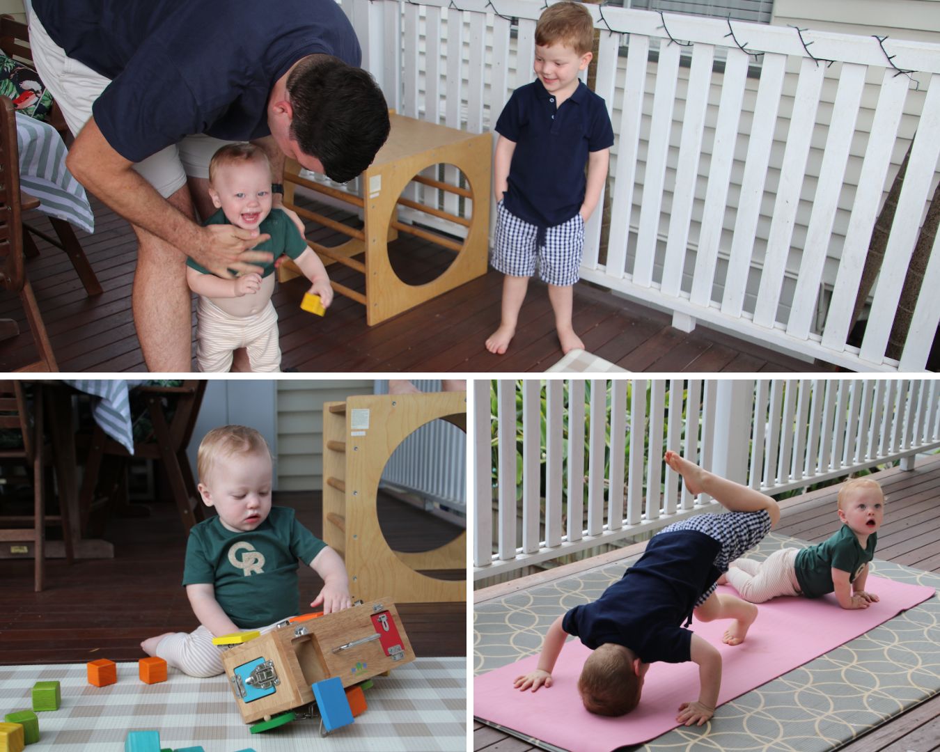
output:
{"label": "navy polo shirt on the standing smiling boy", "polygon": [[560,107],[538,79],[520,86],[495,130],[516,144],[503,206],[538,227],[555,227],[580,211],[587,153],[614,145],[603,98],[581,81]]}

